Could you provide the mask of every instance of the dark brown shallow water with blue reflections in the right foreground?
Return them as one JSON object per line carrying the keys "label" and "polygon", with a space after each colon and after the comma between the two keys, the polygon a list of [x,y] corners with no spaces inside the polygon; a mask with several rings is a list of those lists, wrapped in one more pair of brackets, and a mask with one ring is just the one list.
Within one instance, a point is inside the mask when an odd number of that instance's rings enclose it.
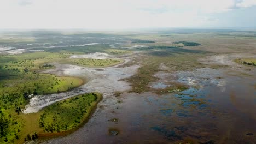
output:
{"label": "dark brown shallow water with blue reflections in the right foreground", "polygon": [[155,87],[177,81],[190,88],[177,94],[109,94],[82,128],[45,143],[256,143],[256,68],[229,64],[160,71]]}

